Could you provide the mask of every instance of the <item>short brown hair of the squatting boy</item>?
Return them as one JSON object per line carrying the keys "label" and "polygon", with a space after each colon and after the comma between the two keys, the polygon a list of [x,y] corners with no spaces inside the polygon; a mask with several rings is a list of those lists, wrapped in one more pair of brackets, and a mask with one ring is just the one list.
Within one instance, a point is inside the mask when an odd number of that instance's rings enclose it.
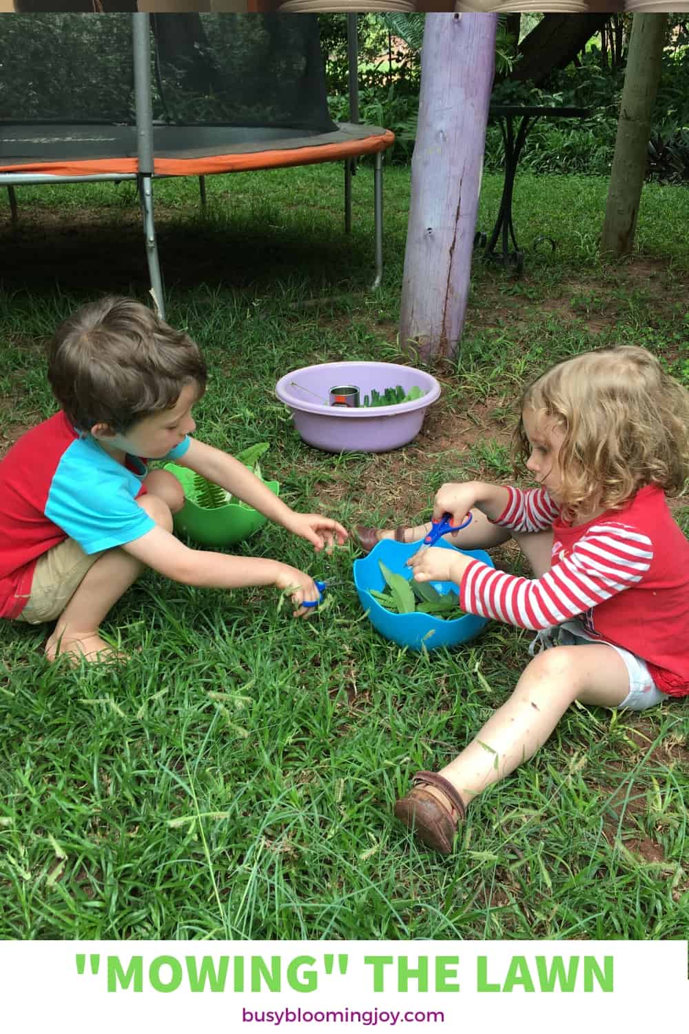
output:
{"label": "short brown hair of the squatting boy", "polygon": [[198,398],[206,391],[198,345],[130,298],[83,305],[58,327],[48,356],[55,397],[81,431],[102,423],[123,434],[173,408],[187,385]]}

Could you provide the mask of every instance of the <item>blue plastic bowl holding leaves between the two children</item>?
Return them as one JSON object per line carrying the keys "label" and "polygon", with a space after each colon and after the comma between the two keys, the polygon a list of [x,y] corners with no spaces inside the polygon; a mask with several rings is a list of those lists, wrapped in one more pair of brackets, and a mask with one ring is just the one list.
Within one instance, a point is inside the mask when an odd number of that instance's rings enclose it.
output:
{"label": "blue plastic bowl holding leaves between the two children", "polygon": [[[453,620],[444,620],[434,614],[396,614],[392,610],[385,610],[374,597],[371,589],[380,592],[385,588],[379,560],[395,571],[396,574],[409,578],[411,569],[405,566],[405,561],[412,553],[415,553],[420,546],[419,542],[395,542],[393,539],[381,539],[368,556],[361,560],[354,560],[354,585],[358,592],[364,610],[369,612],[369,620],[376,631],[380,632],[385,639],[392,639],[399,646],[408,646],[409,649],[420,650],[426,647],[428,650],[438,649],[440,646],[458,646],[460,643],[469,642],[477,636],[483,626],[488,622],[487,617],[478,617],[476,614],[463,614]],[[438,541],[441,549],[455,549],[463,552],[467,556],[474,556],[477,560],[482,560],[494,567],[493,560],[482,549],[458,550],[456,546],[450,546],[443,539]],[[431,582],[439,592],[457,592],[455,582]]]}

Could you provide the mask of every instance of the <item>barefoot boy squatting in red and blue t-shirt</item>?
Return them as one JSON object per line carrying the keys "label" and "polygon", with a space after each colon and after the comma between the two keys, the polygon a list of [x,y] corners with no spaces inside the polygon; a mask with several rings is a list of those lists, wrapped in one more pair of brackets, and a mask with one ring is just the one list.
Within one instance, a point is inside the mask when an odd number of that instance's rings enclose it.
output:
{"label": "barefoot boy squatting in red and blue t-shirt", "polygon": [[83,306],[49,346],[61,412],[0,462],[0,617],[57,620],[50,661],[112,659],[99,625],[145,567],[186,585],[292,587],[294,616],[318,599],[309,575],[279,560],[189,549],[173,535],[182,486],[147,459],[173,459],[313,543],[347,533],[295,513],[231,456],[190,435],[206,390],[197,345],[126,298]]}

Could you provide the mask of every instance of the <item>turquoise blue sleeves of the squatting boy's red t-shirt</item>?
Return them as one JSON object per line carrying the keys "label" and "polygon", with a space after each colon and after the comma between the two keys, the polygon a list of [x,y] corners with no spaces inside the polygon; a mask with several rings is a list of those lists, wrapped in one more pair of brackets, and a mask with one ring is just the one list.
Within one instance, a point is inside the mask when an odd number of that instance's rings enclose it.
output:
{"label": "turquoise blue sleeves of the squatting boy's red t-shirt", "polygon": [[[178,459],[189,448],[186,437],[164,459]],[[80,544],[97,553],[140,539],[155,521],[136,503],[148,470],[140,457],[128,462],[134,474],[113,459],[90,436],[80,437],[62,454],[51,482],[45,516]]]}

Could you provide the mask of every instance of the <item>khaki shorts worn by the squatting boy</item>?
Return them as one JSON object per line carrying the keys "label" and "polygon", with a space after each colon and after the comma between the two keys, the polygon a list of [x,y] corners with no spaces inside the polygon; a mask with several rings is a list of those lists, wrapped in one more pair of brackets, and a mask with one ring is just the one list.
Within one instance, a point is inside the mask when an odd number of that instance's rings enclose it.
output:
{"label": "khaki shorts worn by the squatting boy", "polygon": [[93,567],[99,553],[85,553],[73,539],[65,539],[38,557],[34,568],[29,601],[18,621],[40,625],[60,616]]}

